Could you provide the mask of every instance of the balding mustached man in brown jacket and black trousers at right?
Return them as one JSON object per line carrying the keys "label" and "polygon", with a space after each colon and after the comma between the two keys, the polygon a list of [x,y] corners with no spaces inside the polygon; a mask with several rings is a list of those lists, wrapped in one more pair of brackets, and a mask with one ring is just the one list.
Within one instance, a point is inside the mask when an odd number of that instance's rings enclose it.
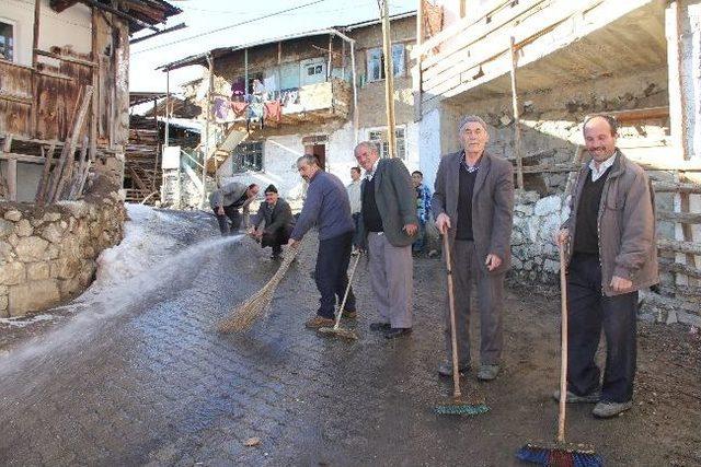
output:
{"label": "balding mustached man in brown jacket and black trousers at right", "polygon": [[[613,117],[587,118],[584,139],[591,160],[555,238],[566,245],[568,265],[566,400],[597,402],[594,416],[609,418],[633,405],[637,291],[659,279],[654,196],[645,171],[616,148]],[[601,328],[602,384],[595,362]]]}

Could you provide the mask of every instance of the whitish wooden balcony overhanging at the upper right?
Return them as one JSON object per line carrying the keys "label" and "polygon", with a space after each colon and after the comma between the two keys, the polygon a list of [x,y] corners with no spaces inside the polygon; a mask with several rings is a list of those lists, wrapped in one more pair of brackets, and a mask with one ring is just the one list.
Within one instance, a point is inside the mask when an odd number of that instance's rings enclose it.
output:
{"label": "whitish wooden balcony overhanging at the upper right", "polygon": [[[512,45],[513,38],[513,45]],[[479,100],[666,67],[664,5],[655,0],[494,1],[412,52],[422,112],[443,98]]]}

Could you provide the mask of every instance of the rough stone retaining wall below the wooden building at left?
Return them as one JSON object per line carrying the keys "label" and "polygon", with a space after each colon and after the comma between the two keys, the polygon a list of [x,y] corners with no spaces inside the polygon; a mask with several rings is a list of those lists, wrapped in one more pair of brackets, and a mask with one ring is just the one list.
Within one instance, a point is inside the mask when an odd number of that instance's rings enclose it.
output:
{"label": "rough stone retaining wall below the wooden building at left", "polygon": [[0,205],[0,317],[72,299],[91,282],[100,253],[122,240],[116,191],[37,207]]}

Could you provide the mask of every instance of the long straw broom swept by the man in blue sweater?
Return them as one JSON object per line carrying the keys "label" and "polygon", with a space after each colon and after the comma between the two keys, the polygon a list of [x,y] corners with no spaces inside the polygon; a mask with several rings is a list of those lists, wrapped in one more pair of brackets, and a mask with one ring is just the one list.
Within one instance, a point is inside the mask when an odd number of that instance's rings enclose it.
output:
{"label": "long straw broom swept by the man in blue sweater", "polygon": [[235,306],[228,318],[219,324],[220,332],[234,332],[249,329],[253,323],[265,313],[273,302],[273,295],[280,283],[289,265],[292,262],[300,246],[288,248],[280,267],[261,290],[251,295],[245,302]]}

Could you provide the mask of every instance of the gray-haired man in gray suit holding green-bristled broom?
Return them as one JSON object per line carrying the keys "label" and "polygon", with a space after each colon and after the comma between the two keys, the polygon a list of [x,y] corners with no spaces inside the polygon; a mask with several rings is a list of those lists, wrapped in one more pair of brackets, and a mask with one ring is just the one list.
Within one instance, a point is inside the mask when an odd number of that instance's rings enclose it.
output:
{"label": "gray-haired man in gray suit holding green-bristled broom", "polygon": [[[470,294],[476,279],[480,308],[480,370],[491,381],[499,371],[503,347],[504,276],[510,266],[514,217],[512,164],[484,151],[486,124],[474,115],[458,125],[463,149],[441,157],[432,208],[438,231],[448,235],[452,253],[458,362],[470,367]],[[452,375],[449,308],[446,297],[447,360],[438,367]]]}

